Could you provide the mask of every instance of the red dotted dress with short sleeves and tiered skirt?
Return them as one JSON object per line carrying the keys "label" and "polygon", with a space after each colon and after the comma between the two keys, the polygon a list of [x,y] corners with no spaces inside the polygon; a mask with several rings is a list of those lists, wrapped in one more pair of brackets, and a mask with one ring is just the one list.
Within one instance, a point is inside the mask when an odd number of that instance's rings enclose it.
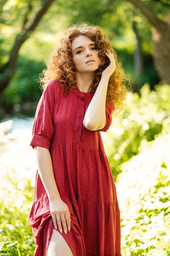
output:
{"label": "red dotted dress with short sleeves and tiered skirt", "polygon": [[[50,150],[57,188],[71,213],[71,231],[62,236],[73,256],[121,256],[120,214],[113,176],[99,131],[83,126],[93,92],[71,89],[57,81],[44,89],[38,103],[31,146]],[[108,130],[113,106],[106,106]],[[49,200],[37,172],[29,215],[35,256],[46,256],[53,232]]]}

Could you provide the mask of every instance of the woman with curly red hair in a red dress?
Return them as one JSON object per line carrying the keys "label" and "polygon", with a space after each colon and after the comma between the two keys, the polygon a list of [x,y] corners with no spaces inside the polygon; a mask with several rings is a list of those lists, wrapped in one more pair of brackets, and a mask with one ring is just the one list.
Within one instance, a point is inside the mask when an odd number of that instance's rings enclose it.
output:
{"label": "woman with curly red hair in a red dress", "polygon": [[115,184],[100,131],[124,100],[124,72],[98,27],[65,31],[40,79],[38,172],[29,216],[35,256],[121,256]]}

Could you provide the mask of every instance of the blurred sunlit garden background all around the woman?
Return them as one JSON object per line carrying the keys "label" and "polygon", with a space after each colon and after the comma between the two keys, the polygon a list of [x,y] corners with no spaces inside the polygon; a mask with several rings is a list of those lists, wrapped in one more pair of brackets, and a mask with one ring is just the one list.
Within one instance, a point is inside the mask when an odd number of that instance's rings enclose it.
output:
{"label": "blurred sunlit garden background all around the woman", "polygon": [[77,22],[109,36],[133,88],[121,120],[101,132],[122,256],[170,256],[170,0],[0,0],[0,255],[33,256],[37,79]]}

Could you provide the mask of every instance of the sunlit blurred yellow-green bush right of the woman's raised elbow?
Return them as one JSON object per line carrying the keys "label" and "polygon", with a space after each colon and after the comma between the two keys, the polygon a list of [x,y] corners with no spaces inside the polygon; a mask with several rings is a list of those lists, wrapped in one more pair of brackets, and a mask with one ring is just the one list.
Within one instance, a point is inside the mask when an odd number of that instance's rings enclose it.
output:
{"label": "sunlit blurred yellow-green bush right of the woman's raised elbow", "polygon": [[103,135],[114,177],[121,172],[121,164],[137,155],[162,128],[170,131],[170,85],[156,85],[155,91],[150,91],[146,84],[140,94],[127,93],[122,120],[113,117],[109,132]]}

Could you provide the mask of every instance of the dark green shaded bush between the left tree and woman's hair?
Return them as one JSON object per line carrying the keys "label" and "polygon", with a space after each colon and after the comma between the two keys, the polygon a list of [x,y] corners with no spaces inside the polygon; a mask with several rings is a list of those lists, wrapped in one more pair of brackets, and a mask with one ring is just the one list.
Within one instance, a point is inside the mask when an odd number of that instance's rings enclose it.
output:
{"label": "dark green shaded bush between the left tree and woman's hair", "polygon": [[44,67],[44,63],[25,59],[22,56],[15,76],[2,97],[5,113],[10,115],[21,113],[26,116],[35,114],[37,103],[42,95],[37,79]]}

